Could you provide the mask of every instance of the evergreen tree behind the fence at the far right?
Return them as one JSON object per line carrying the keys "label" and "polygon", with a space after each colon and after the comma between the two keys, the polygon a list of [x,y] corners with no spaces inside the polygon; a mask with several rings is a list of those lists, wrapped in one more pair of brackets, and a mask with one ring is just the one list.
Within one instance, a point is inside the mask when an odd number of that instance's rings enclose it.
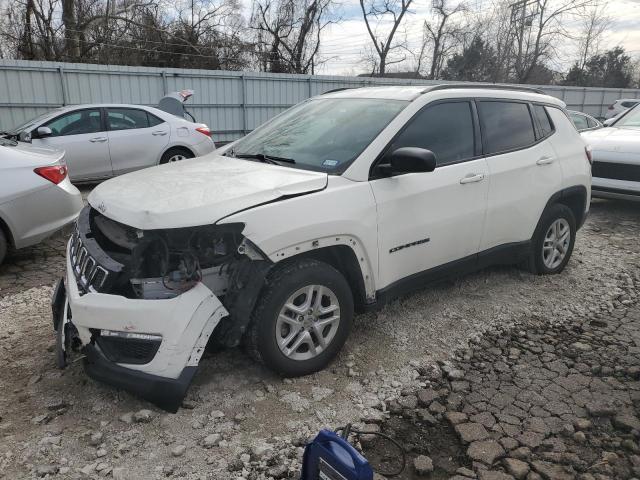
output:
{"label": "evergreen tree behind the fence at the far right", "polygon": [[633,80],[633,63],[624,48],[615,47],[587,60],[584,68],[576,62],[564,81],[580,87],[629,88]]}

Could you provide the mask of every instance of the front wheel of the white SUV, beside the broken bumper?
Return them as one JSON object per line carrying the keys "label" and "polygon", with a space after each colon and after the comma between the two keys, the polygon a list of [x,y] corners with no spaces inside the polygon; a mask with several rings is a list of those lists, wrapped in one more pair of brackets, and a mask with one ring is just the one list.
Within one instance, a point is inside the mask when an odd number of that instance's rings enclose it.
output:
{"label": "front wheel of the white SUV, beside the broken bumper", "polygon": [[[322,295],[318,297],[320,291]],[[319,310],[336,306],[337,310],[328,313]],[[349,336],[353,312],[349,284],[335,268],[310,259],[287,263],[267,277],[245,346],[256,361],[284,377],[309,375],[322,370],[338,354]],[[324,346],[318,335],[326,342]],[[301,339],[304,342],[294,349]],[[279,341],[284,347],[279,346]]]}

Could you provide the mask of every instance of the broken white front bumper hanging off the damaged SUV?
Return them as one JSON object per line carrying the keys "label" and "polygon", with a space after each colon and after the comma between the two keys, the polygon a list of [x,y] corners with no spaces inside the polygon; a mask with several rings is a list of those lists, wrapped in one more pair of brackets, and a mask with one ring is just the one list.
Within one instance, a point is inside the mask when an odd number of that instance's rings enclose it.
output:
{"label": "broken white front bumper hanging off the damaged SUV", "polygon": [[[78,288],[67,247],[67,274],[52,298],[54,328],[68,302],[69,321],[78,332],[84,369],[95,380],[136,394],[158,407],[176,412],[195,375],[213,330],[228,312],[204,284],[183,294],[160,300],[130,299]],[[114,360],[100,348],[101,335],[158,339],[145,363]],[[103,342],[103,345],[106,345]],[[111,358],[109,356],[111,355]]]}

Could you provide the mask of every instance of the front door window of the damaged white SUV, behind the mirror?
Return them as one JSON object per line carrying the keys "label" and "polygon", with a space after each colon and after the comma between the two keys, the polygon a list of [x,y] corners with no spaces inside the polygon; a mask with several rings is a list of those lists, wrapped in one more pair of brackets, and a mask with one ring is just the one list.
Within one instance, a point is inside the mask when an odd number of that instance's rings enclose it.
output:
{"label": "front door window of the damaged white SUV, behind the mirror", "polygon": [[475,155],[473,117],[469,102],[428,106],[409,121],[391,146],[420,147],[436,155],[438,165],[460,162]]}

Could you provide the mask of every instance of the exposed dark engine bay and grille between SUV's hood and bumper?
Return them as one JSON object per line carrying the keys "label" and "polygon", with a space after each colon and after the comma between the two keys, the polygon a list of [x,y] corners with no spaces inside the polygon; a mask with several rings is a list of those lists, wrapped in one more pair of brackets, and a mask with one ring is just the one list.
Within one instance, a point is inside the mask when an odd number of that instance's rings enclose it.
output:
{"label": "exposed dark engine bay and grille between SUV's hood and bumper", "polygon": [[202,283],[229,315],[215,341],[237,346],[272,262],[242,235],[241,223],[139,230],[91,207],[80,213],[70,262],[81,295],[175,298]]}

